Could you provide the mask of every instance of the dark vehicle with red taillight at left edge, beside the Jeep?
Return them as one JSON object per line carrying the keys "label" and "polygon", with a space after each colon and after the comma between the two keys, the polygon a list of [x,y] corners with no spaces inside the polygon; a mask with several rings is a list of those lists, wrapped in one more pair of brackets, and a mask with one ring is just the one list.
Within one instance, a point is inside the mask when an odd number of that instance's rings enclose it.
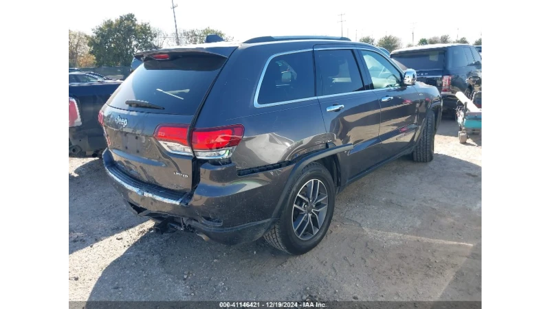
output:
{"label": "dark vehicle with red taillight at left edge, beside the Jeep", "polygon": [[[70,74],[70,73],[69,73]],[[98,113],[122,81],[69,82],[69,154],[100,157],[107,147]]]}

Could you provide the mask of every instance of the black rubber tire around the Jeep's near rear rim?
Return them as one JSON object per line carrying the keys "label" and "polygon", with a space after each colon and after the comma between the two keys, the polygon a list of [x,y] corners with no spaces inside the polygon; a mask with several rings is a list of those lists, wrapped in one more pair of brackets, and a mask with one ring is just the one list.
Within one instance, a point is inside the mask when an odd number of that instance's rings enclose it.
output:
{"label": "black rubber tire around the Jeep's near rear rim", "polygon": [[[298,238],[294,232],[294,201],[303,186],[313,179],[320,180],[322,184],[325,185],[327,191],[327,212],[325,214],[325,220],[320,225],[318,232],[314,233],[314,236],[312,236],[311,239],[302,240]],[[310,163],[306,165],[294,181],[294,185],[292,190],[289,192],[289,198],[287,199],[287,204],[284,205],[281,217],[272,229],[267,231],[263,237],[273,247],[286,253],[293,255],[307,253],[311,249],[314,249],[319,242],[325,238],[334,213],[335,198],[336,189],[334,187],[332,176],[327,168],[319,163]]]}

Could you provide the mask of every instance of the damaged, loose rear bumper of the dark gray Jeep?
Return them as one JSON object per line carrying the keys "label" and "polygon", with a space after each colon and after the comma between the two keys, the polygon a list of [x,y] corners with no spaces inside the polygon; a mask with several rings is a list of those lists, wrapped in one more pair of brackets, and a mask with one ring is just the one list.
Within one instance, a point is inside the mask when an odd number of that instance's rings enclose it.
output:
{"label": "damaged, loose rear bumper of the dark gray Jeep", "polygon": [[[173,192],[149,183],[137,181],[116,167],[109,149],[103,154],[104,167],[126,206],[137,216],[156,222],[168,221],[180,229],[192,229],[223,244],[252,242],[263,236],[276,219],[272,214],[283,189],[290,167],[265,173],[240,176],[229,183],[212,179],[236,177],[234,166],[223,170],[219,166],[202,170],[205,179],[192,192]],[[223,173],[225,177],[212,174]],[[209,175],[209,176],[207,176]]]}

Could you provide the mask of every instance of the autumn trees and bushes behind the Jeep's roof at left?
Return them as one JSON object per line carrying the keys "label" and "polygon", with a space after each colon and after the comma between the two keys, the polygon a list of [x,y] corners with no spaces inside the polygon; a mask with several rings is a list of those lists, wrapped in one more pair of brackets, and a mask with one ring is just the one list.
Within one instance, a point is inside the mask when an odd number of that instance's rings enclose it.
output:
{"label": "autumn trees and bushes behind the Jeep's roof at left", "polygon": [[[91,35],[69,30],[67,34],[67,60],[69,67],[118,67],[129,66],[133,54],[142,50],[158,49],[176,45],[176,34],[139,23],[134,14],[125,14],[118,19],[108,19],[92,30]],[[179,30],[179,44],[203,43],[208,34],[217,34],[232,41],[232,37],[220,30]]]}

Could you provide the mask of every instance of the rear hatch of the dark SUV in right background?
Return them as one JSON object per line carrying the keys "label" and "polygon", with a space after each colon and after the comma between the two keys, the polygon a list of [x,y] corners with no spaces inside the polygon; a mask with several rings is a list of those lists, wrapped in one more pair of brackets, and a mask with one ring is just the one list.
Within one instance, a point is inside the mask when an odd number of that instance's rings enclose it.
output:
{"label": "rear hatch of the dark SUV in right background", "polygon": [[417,80],[437,87],[443,86],[443,69],[445,69],[445,49],[426,49],[414,52],[392,54],[393,61],[402,70],[417,71]]}

